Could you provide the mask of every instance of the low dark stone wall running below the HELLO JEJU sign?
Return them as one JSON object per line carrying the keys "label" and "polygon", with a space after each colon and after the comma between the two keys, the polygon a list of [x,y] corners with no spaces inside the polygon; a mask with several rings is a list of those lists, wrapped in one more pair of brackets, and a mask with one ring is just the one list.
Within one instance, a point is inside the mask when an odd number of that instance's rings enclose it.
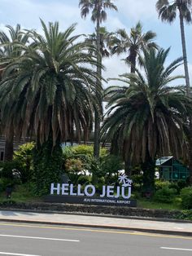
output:
{"label": "low dark stone wall running below the HELLO JEJU sign", "polygon": [[33,210],[33,211],[55,211],[61,213],[81,214],[107,214],[124,217],[145,217],[145,218],[177,218],[179,210],[149,210],[142,208],[99,206],[99,205],[69,205],[45,202],[15,203],[4,201],[0,203],[0,210]]}

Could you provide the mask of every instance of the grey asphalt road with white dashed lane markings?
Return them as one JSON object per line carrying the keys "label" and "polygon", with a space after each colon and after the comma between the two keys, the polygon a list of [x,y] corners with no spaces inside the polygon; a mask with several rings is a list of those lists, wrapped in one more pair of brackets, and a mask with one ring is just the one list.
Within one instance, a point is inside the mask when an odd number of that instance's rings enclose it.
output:
{"label": "grey asphalt road with white dashed lane markings", "polygon": [[1,255],[191,256],[192,237],[83,227],[0,223]]}

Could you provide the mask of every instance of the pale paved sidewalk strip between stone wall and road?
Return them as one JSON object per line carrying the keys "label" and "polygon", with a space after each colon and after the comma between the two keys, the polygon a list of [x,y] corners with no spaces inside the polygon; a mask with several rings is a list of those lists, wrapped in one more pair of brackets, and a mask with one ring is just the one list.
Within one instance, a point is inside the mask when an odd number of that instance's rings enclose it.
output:
{"label": "pale paved sidewalk strip between stone wall and road", "polygon": [[178,236],[192,236],[192,223],[156,221],[133,218],[114,218],[81,214],[36,213],[27,211],[0,210],[0,222],[24,222],[123,229],[137,232],[153,232]]}

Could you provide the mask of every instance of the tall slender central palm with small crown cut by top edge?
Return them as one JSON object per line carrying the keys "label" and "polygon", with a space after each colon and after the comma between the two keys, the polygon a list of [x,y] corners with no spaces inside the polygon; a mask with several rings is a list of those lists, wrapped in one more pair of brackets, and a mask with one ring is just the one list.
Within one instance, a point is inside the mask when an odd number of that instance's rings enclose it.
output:
{"label": "tall slender central palm with small crown cut by top edge", "polygon": [[[81,7],[81,17],[86,18],[89,15],[89,11],[92,10],[91,20],[96,23],[96,38],[97,38],[97,61],[98,68],[97,73],[98,77],[101,77],[102,70],[100,68],[102,64],[102,55],[100,54],[100,43],[101,43],[101,34],[100,34],[100,24],[107,19],[107,9],[117,11],[117,7],[111,2],[111,0],[80,0],[79,7]],[[101,80],[97,79],[98,86],[102,86]],[[100,105],[102,105],[102,95],[100,97]],[[100,137],[100,121],[101,113],[98,109],[95,109],[94,112],[95,121],[94,121],[94,157],[98,158],[99,156],[99,137]]]}

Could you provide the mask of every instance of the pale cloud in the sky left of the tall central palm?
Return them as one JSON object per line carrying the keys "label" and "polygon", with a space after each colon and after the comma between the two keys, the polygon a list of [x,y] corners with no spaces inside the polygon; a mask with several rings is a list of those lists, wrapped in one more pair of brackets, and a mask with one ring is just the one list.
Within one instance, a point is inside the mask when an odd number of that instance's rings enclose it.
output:
{"label": "pale cloud in the sky left of the tall central palm", "polygon": [[[77,33],[91,32],[89,22],[81,19],[78,1],[72,5],[70,1],[35,1],[35,0],[1,0],[2,20],[6,24],[22,24],[26,29],[39,29],[40,20],[59,21],[62,29],[67,29],[71,24],[78,23]],[[10,8],[7,8],[10,6]]]}

